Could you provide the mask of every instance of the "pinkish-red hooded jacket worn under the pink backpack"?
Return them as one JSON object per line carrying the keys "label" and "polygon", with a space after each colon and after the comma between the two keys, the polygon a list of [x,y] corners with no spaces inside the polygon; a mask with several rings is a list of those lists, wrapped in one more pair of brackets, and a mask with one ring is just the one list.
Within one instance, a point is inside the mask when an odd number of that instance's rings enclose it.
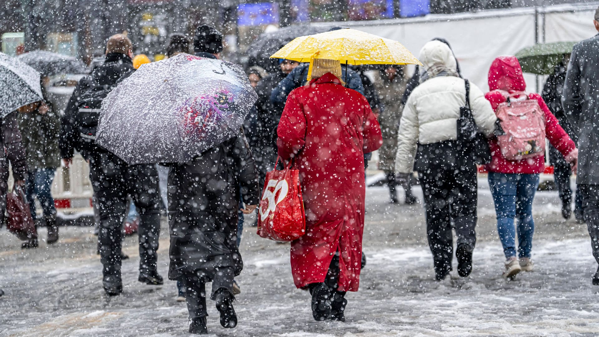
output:
{"label": "pinkish-red hooded jacket worn under the pink backpack", "polygon": [[[507,94],[526,90],[522,68],[515,56],[501,56],[496,58],[489,69],[489,89],[485,98],[491,102],[491,107],[497,112],[500,103],[506,101]],[[564,129],[559,126],[558,120],[539,94],[527,94],[530,100],[537,100],[541,110],[545,113],[545,133],[551,145],[562,155],[567,155],[576,148]],[[541,173],[545,169],[545,157],[540,155],[520,161],[509,161],[501,154],[497,139],[489,139],[491,149],[491,163],[486,165],[486,170],[500,173]]]}

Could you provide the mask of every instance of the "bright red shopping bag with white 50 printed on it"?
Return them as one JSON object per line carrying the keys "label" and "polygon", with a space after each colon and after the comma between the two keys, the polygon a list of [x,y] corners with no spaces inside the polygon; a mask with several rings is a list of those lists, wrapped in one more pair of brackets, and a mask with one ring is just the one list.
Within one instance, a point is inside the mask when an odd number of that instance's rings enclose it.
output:
{"label": "bright red shopping bag with white 50 printed on it", "polygon": [[[279,158],[277,158],[279,163]],[[304,200],[301,197],[299,171],[275,169],[266,174],[258,208],[258,235],[265,239],[289,242],[305,234]]]}

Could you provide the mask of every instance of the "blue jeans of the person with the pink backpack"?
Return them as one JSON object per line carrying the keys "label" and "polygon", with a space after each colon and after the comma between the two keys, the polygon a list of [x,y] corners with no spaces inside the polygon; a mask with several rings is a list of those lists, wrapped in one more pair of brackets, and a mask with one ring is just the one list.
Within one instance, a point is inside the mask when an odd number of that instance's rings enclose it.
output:
{"label": "blue jeans of the person with the pink backpack", "polygon": [[[518,231],[519,257],[531,257],[533,248],[533,200],[539,174],[489,172],[489,186],[497,213],[497,232],[506,258],[516,256]],[[517,229],[514,218],[518,217]]]}

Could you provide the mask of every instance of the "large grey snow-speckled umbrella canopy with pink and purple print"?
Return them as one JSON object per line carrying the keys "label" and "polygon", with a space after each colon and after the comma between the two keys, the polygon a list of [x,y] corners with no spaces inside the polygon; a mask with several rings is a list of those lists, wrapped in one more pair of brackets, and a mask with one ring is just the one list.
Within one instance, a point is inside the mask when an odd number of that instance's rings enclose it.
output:
{"label": "large grey snow-speckled umbrella canopy with pink and purple print", "polygon": [[108,94],[96,143],[129,164],[185,163],[237,135],[257,99],[240,65],[179,54]]}

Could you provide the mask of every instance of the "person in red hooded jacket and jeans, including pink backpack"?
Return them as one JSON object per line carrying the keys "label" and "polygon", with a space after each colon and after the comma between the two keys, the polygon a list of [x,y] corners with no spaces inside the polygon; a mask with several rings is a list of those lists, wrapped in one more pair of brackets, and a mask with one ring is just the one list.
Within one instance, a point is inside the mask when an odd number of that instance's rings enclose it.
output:
{"label": "person in red hooded jacket and jeans, including pink backpack", "polygon": [[[485,98],[495,111],[497,137],[489,140],[489,187],[497,213],[497,231],[506,256],[504,278],[533,270],[533,200],[545,168],[545,139],[576,171],[578,150],[539,94],[529,94],[515,56],[496,58],[489,68]],[[514,227],[514,218],[518,225]],[[518,233],[518,257],[516,256]]]}

